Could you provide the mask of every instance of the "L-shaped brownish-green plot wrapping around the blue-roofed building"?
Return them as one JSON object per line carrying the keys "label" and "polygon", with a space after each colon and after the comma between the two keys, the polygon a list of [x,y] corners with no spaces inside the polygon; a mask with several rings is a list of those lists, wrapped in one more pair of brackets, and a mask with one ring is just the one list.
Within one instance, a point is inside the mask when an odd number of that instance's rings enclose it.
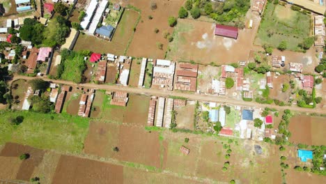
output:
{"label": "L-shaped brownish-green plot wrapping around the blue-roofed building", "polygon": [[138,17],[139,14],[137,12],[133,10],[125,10],[111,42],[101,38],[96,38],[95,36],[81,34],[78,37],[74,50],[88,49],[93,52],[109,52],[116,55],[123,55],[128,42],[132,38],[134,25],[136,24]]}

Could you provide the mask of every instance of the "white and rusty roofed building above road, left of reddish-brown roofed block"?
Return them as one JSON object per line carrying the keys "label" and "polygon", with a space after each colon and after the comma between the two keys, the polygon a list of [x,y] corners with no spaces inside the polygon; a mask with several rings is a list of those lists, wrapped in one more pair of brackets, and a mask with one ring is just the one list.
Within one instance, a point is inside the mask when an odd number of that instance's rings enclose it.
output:
{"label": "white and rusty roofed building above road, left of reddish-brown roofed block", "polygon": [[168,90],[173,89],[173,76],[176,64],[169,60],[157,59],[153,68],[153,86],[159,85]]}

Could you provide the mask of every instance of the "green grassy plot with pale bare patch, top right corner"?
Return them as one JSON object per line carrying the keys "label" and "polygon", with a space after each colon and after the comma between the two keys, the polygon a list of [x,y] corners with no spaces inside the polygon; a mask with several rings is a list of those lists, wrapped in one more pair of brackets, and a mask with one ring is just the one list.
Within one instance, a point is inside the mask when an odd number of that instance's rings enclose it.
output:
{"label": "green grassy plot with pale bare patch, top right corner", "polygon": [[309,38],[310,32],[310,15],[291,10],[288,6],[267,3],[255,44],[278,47],[284,40],[287,49],[300,51],[298,45],[304,38]]}

